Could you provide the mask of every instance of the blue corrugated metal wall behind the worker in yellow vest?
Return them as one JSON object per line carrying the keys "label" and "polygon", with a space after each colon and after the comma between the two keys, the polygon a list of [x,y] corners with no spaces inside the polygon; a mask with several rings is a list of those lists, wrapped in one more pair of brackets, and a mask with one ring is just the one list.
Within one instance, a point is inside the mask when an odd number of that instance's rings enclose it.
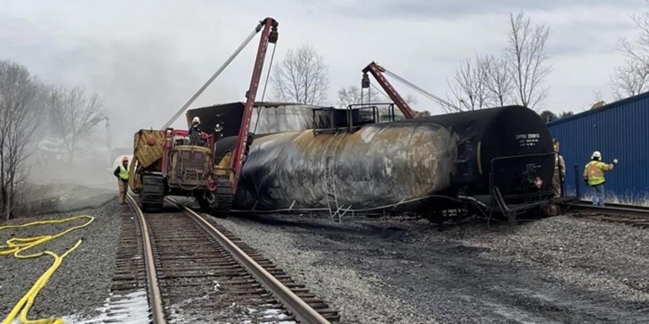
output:
{"label": "blue corrugated metal wall behind the worker in yellow vest", "polygon": [[606,163],[619,159],[617,167],[606,172],[607,195],[632,200],[649,198],[649,93],[550,122],[548,128],[560,142],[569,194],[575,192],[574,165],[578,165],[582,192],[590,194],[582,172],[591,154],[598,150]]}

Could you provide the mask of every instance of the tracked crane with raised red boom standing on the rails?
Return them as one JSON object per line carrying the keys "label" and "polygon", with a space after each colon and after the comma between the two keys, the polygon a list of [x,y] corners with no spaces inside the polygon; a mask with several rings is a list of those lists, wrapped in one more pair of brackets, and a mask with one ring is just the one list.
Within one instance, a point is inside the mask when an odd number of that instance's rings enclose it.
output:
{"label": "tracked crane with raised red boom standing on the rails", "polygon": [[[191,196],[202,209],[224,215],[230,211],[239,172],[243,167],[251,124],[254,99],[262,75],[269,43],[276,43],[278,23],[266,17],[208,81],[162,127],[162,130],[140,130],[134,136],[134,160],[129,168],[129,187],[139,195],[144,210],[161,209],[164,197]],[[220,161],[214,161],[214,135],[201,132],[190,138],[188,130],[171,128],[171,124],[189,108],[201,93],[223,72],[239,52],[262,31],[252,78],[245,93],[246,104],[236,147]]]}

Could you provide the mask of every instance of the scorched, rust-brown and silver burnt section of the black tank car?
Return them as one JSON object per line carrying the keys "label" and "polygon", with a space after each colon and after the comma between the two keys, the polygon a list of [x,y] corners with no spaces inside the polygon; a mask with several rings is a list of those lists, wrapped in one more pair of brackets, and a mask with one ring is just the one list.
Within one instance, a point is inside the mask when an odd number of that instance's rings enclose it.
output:
{"label": "scorched, rust-brown and silver burnt section of the black tank car", "polygon": [[432,123],[264,135],[252,143],[234,207],[312,209],[337,200],[371,209],[424,197],[450,185],[456,154],[456,137]]}

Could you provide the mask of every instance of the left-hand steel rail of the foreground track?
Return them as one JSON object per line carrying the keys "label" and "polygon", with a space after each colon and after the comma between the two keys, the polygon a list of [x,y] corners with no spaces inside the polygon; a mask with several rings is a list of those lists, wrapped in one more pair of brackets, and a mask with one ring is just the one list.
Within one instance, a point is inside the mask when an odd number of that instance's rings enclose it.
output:
{"label": "left-hand steel rail of the foreground track", "polygon": [[162,307],[162,294],[158,286],[158,274],[156,273],[156,266],[153,259],[153,250],[151,249],[151,238],[149,237],[149,227],[147,221],[144,219],[138,203],[135,199],[127,194],[127,200],[130,207],[138,214],[140,221],[140,230],[142,232],[142,241],[144,247],[144,261],[147,268],[147,286],[149,286],[149,305],[151,307],[151,315],[153,316],[153,324],[166,324],[164,318],[164,308]]}

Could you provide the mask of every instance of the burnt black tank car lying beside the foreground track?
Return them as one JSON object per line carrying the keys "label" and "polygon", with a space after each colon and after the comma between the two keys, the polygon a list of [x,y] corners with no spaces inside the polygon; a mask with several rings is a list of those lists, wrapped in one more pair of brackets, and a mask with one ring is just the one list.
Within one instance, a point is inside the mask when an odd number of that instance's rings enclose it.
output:
{"label": "burnt black tank car lying beside the foreground track", "polygon": [[[353,112],[346,110],[347,121],[330,119],[326,129],[256,135],[233,208],[432,216],[477,209],[513,219],[552,196],[552,139],[528,108],[362,125]],[[216,156],[230,141],[220,142]]]}

